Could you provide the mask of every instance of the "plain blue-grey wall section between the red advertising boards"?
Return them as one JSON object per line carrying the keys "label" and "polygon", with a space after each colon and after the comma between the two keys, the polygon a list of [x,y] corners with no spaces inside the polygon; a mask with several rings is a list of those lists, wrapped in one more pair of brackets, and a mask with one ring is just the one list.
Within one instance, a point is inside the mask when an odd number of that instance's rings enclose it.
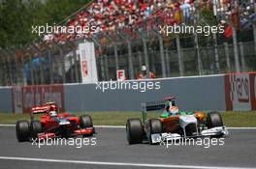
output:
{"label": "plain blue-grey wall section between the red advertising boards", "polygon": [[[138,80],[136,80],[138,81]],[[159,90],[96,90],[95,84],[64,85],[67,111],[141,111],[141,103],[176,96],[182,110],[225,110],[224,75],[148,80]],[[129,80],[133,83],[135,80]],[[142,82],[141,80],[138,82]]]}

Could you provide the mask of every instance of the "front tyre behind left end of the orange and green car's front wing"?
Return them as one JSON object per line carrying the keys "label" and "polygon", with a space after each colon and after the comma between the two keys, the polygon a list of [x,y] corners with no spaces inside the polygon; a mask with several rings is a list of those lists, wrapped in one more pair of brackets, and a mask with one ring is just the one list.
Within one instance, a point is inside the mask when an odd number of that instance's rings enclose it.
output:
{"label": "front tyre behind left end of the orange and green car's front wing", "polygon": [[163,132],[162,122],[159,119],[151,119],[149,121],[149,144],[152,145],[152,137],[151,134],[158,134]]}

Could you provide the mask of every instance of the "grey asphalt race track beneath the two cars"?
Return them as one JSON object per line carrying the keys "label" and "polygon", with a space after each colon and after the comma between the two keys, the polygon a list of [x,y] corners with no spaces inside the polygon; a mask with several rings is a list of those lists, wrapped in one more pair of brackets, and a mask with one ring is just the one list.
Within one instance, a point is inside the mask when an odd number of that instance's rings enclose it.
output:
{"label": "grey asphalt race track beneath the two cars", "polygon": [[15,127],[0,127],[0,169],[254,168],[256,129],[230,129],[223,146],[128,145],[125,128],[96,128],[95,146],[18,143]]}

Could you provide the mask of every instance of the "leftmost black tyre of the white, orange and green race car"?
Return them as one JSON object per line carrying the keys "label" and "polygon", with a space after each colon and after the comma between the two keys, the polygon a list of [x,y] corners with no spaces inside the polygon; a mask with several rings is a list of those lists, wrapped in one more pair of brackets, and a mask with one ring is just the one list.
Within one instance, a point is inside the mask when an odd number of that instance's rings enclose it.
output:
{"label": "leftmost black tyre of the white, orange and green race car", "polygon": [[126,123],[126,137],[129,144],[143,142],[144,128],[140,119],[128,119]]}

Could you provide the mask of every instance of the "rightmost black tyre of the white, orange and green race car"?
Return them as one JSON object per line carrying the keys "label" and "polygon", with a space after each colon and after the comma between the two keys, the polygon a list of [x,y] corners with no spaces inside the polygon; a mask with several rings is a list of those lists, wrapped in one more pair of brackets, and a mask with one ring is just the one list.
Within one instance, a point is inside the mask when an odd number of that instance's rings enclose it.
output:
{"label": "rightmost black tyre of the white, orange and green race car", "polygon": [[223,127],[222,118],[219,112],[209,112],[207,117],[207,127]]}

